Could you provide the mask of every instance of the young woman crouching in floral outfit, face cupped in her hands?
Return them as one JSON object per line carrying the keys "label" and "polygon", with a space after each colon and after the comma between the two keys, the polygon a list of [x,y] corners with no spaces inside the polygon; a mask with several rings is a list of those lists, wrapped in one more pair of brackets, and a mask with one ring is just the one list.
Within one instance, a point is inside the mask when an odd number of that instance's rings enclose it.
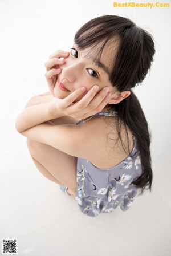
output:
{"label": "young woman crouching in floral outfit, face cupped in her hands", "polygon": [[148,124],[132,88],[154,52],[152,37],[129,19],[92,19],[70,52],[50,56],[49,91],[32,97],[17,118],[37,168],[88,216],[127,210],[151,189]]}

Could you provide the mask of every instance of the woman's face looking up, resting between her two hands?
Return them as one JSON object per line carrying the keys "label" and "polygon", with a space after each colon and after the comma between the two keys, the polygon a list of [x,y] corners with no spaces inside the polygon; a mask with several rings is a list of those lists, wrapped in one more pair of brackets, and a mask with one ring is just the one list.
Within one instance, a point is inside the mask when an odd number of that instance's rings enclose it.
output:
{"label": "woman's face looking up, resting between her two hands", "polygon": [[87,50],[79,50],[77,45],[74,44],[70,55],[65,59],[65,63],[60,66],[62,72],[58,75],[54,95],[64,99],[71,92],[83,86],[87,88],[85,95],[95,85],[99,86],[99,90],[108,86],[110,88],[109,92],[115,92],[116,88],[109,82],[109,72],[111,71],[111,63],[115,59],[115,52],[116,42],[114,45],[106,44],[100,62],[93,62],[90,54],[86,56]]}

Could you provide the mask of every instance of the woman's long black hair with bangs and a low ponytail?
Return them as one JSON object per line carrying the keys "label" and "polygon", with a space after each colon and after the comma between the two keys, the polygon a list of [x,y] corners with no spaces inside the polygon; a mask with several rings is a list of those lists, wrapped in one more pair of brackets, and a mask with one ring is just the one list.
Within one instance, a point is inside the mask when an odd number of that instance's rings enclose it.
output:
{"label": "woman's long black hair with bangs and a low ponytail", "polygon": [[125,131],[128,127],[136,137],[142,174],[132,184],[141,188],[143,193],[145,188],[151,190],[153,178],[150,134],[143,109],[132,88],[141,84],[150,69],[155,53],[154,42],[148,32],[130,19],[116,15],[105,15],[87,22],[76,32],[74,41],[80,50],[91,47],[90,52],[94,52],[95,58],[100,60],[105,44],[113,38],[119,38],[119,47],[109,80],[119,92],[131,91],[131,95],[110,107],[117,111],[119,117],[117,132],[120,140],[121,124],[124,124]]}

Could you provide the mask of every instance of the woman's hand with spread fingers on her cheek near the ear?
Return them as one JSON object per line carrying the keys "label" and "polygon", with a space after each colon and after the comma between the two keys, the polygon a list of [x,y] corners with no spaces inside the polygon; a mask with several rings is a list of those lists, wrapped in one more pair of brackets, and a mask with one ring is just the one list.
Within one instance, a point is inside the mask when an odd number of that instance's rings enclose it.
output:
{"label": "woman's hand with spread fingers on her cheek near the ear", "polygon": [[85,119],[99,113],[108,104],[111,95],[111,93],[108,93],[109,87],[104,87],[99,91],[99,86],[93,86],[81,100],[74,103],[85,91],[86,88],[82,87],[64,99],[54,97],[50,105],[50,112],[54,118],[57,116],[72,116]]}

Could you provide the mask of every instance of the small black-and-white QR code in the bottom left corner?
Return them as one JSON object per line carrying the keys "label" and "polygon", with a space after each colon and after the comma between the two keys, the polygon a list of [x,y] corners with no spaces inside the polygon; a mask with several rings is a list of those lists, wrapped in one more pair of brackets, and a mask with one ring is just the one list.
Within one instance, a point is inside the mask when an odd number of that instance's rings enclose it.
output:
{"label": "small black-and-white QR code in the bottom left corner", "polygon": [[17,254],[17,239],[2,239],[2,254]]}

